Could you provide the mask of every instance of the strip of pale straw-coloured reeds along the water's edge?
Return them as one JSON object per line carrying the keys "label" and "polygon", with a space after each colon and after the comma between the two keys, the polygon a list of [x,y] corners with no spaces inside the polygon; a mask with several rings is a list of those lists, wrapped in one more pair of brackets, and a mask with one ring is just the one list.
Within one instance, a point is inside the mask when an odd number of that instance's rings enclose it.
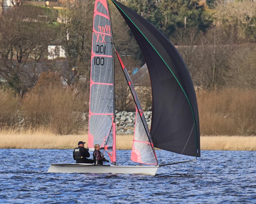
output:
{"label": "strip of pale straw-coloured reeds along the water's edge", "polygon": [[[117,149],[131,149],[133,135],[117,135]],[[87,135],[55,135],[48,130],[0,130],[0,148],[73,149]],[[202,136],[202,150],[256,151],[256,136]]]}

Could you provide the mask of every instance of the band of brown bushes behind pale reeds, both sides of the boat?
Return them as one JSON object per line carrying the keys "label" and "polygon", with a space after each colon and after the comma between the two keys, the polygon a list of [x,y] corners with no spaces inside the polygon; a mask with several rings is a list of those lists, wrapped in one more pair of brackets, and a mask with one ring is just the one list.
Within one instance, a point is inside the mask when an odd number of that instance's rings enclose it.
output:
{"label": "band of brown bushes behind pale reeds, both sides of the boat", "polygon": [[[87,128],[87,92],[38,81],[22,99],[0,87],[0,128],[48,128],[53,134],[80,134]],[[197,92],[201,135],[256,135],[255,89],[225,88]],[[87,114],[86,114],[87,115]],[[23,122],[20,119],[24,118]]]}

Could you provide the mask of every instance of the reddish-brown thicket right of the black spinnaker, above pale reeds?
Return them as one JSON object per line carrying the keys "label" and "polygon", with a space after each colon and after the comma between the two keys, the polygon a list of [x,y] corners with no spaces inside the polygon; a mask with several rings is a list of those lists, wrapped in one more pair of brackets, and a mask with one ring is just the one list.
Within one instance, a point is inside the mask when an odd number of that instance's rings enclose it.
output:
{"label": "reddish-brown thicket right of the black spinnaker, above pale reeds", "polygon": [[197,93],[201,135],[256,135],[256,91],[227,88]]}

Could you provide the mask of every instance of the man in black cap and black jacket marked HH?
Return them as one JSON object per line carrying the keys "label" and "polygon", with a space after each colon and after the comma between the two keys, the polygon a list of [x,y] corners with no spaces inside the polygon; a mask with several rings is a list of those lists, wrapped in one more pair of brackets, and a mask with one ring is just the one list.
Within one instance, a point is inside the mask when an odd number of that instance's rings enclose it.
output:
{"label": "man in black cap and black jacket marked HH", "polygon": [[92,159],[87,159],[86,157],[90,157],[90,153],[87,149],[84,148],[85,142],[79,141],[78,147],[76,147],[73,151],[73,159],[76,160],[76,163],[89,163],[93,164]]}

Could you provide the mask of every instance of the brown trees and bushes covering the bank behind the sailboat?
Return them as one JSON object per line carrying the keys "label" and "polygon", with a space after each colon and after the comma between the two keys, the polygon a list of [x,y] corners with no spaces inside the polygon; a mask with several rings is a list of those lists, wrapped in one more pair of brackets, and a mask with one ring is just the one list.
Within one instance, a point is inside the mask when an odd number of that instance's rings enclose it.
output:
{"label": "brown trees and bushes covering the bank behind the sailboat", "polygon": [[[179,50],[196,88],[201,134],[256,134],[255,1],[121,2],[148,19]],[[1,3],[0,128],[84,132],[94,1],[61,1],[55,8],[17,0],[2,9]],[[116,50],[148,109],[149,75],[142,69],[132,74],[144,64],[143,56],[111,3],[110,11]],[[61,46],[66,56],[49,59],[50,45]],[[117,110],[134,110],[117,63],[116,83]]]}

